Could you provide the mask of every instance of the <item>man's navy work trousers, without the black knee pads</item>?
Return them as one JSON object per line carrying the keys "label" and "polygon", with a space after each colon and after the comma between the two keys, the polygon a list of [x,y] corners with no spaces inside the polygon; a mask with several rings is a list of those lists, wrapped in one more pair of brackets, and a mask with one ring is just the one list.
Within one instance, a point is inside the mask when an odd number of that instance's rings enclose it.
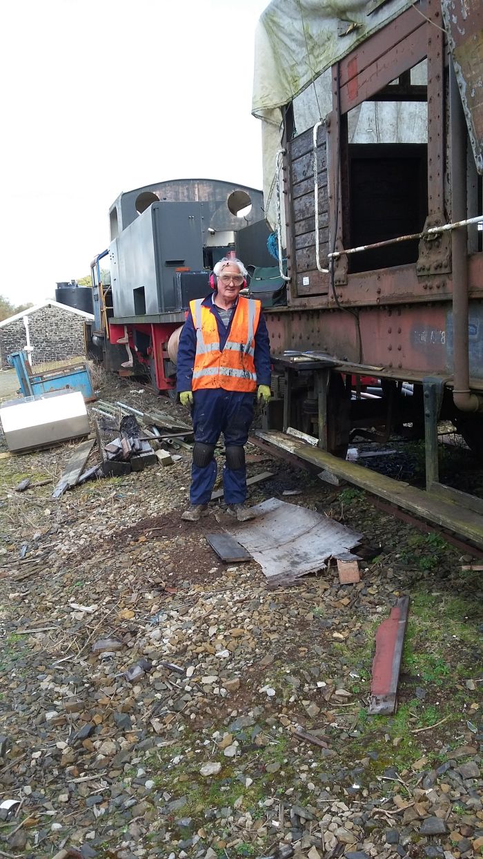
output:
{"label": "man's navy work trousers, without the black knee pads", "polygon": [[[193,430],[195,442],[216,444],[221,433],[225,446],[243,448],[253,420],[254,393],[240,393],[214,388],[193,392]],[[216,479],[216,460],[201,468],[191,466],[190,503],[208,504]],[[243,504],[246,498],[246,469],[223,468],[223,492],[226,504]]]}

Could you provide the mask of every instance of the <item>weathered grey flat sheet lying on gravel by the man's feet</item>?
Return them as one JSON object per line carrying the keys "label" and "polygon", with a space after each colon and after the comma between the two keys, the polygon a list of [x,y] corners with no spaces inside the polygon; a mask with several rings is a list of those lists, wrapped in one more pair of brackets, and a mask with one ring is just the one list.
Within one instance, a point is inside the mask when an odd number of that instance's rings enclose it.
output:
{"label": "weathered grey flat sheet lying on gravel by the man's feet", "polygon": [[251,509],[257,519],[225,530],[260,564],[269,587],[323,570],[329,557],[352,549],[362,538],[329,516],[278,498]]}

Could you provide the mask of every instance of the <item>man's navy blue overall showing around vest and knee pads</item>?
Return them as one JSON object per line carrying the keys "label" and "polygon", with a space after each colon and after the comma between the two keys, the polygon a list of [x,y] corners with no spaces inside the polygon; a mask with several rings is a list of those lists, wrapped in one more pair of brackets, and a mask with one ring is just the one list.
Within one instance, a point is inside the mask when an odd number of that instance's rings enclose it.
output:
{"label": "man's navy blue overall showing around vest and knee pads", "polygon": [[[223,350],[236,305],[232,308],[232,314],[227,327],[220,319],[212,295],[207,295],[203,301],[203,305],[210,308],[214,314],[220,336],[220,350]],[[179,338],[177,366],[179,393],[190,391],[191,389],[195,356],[196,329],[193,325],[191,314],[188,314]],[[267,331],[263,315],[260,315],[255,334],[254,362],[257,373],[257,385],[269,386],[271,381],[269,332]],[[243,447],[246,444],[253,420],[254,405],[254,393],[226,391],[222,387],[194,391],[191,416],[193,418],[195,442],[214,445],[222,433],[225,438],[225,445]],[[191,466],[190,486],[191,504],[208,503],[213,491],[216,473],[217,466],[214,458],[208,463],[208,466],[204,467],[196,466],[193,463]],[[226,504],[245,503],[245,466],[237,469],[228,468],[226,465],[223,467],[223,491]]]}

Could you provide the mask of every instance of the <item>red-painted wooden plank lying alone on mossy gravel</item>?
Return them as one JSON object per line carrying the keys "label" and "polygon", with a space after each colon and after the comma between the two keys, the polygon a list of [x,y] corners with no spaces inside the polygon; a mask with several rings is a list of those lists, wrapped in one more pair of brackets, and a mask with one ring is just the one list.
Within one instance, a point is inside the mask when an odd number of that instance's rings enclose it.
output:
{"label": "red-painted wooden plank lying alone on mossy gravel", "polygon": [[391,608],[376,633],[376,654],[372,660],[371,716],[390,716],[397,708],[397,684],[402,646],[408,623],[409,597],[403,596]]}

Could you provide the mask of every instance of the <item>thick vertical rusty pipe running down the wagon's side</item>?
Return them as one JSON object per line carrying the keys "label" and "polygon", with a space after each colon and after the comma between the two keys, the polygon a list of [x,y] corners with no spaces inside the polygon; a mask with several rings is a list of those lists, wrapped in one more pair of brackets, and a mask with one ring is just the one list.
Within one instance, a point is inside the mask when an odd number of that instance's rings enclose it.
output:
{"label": "thick vertical rusty pipe running down the wagon's side", "polygon": [[[467,215],[467,125],[452,60],[450,60],[451,221]],[[483,398],[469,389],[468,229],[451,233],[453,269],[453,400],[461,411],[483,411]]]}

